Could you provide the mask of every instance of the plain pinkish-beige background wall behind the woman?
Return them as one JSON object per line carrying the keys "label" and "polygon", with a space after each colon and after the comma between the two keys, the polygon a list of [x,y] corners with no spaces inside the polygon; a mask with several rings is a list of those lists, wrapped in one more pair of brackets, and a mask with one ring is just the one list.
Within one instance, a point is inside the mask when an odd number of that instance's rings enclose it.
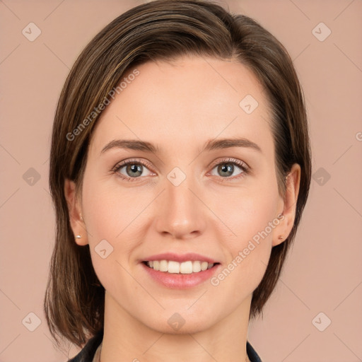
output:
{"label": "plain pinkish-beige background wall behind the woman", "polygon": [[[67,361],[78,352],[72,346],[68,357],[54,349],[42,311],[54,243],[50,132],[81,49],[138,4],[0,1],[2,362]],[[250,324],[248,339],[265,362],[361,361],[362,1],[222,4],[255,18],[288,49],[305,92],[313,148],[315,180],[295,245],[264,319]],[[41,30],[33,42],[22,34],[30,22]],[[324,41],[313,35],[321,22],[332,31]],[[327,35],[319,28],[319,37]],[[36,317],[22,322],[29,313],[40,319],[33,332],[25,325]],[[332,322],[320,332],[327,318]]]}

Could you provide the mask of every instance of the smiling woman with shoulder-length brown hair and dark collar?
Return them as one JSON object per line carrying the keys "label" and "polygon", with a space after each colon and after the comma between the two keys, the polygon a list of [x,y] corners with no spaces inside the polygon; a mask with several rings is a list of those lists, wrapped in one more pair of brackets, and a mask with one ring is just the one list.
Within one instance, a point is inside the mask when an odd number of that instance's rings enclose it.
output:
{"label": "smiling woman with shoulder-length brown hair and dark collar", "polygon": [[55,339],[83,347],[70,361],[261,361],[249,320],[310,167],[296,71],[256,21],[158,0],[107,25],[71,69],[52,135],[45,313]]}

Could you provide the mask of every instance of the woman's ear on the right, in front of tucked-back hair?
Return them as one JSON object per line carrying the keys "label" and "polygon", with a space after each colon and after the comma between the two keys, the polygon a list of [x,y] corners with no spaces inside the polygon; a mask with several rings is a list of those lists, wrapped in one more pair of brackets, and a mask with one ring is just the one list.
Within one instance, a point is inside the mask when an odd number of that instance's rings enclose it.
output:
{"label": "woman's ear on the right, in front of tucked-back hair", "polygon": [[291,233],[291,229],[293,228],[294,220],[296,218],[296,205],[298,201],[299,186],[300,165],[298,165],[298,163],[294,163],[290,173],[288,173],[286,176],[286,194],[282,203],[282,214],[284,218],[279,218],[281,223],[276,228],[276,232],[273,235],[273,246],[283,243]]}

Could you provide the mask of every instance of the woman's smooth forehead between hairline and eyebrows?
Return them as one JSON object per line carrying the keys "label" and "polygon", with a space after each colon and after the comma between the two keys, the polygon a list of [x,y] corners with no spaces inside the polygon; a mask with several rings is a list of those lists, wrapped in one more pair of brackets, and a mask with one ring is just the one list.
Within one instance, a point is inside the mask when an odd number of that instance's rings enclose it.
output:
{"label": "woman's smooth forehead between hairline and eyebrows", "polygon": [[[136,66],[103,111],[91,149],[112,139],[142,139],[170,149],[217,136],[243,136],[271,145],[269,104],[256,76],[243,64],[184,57]],[[117,93],[116,93],[117,94]]]}

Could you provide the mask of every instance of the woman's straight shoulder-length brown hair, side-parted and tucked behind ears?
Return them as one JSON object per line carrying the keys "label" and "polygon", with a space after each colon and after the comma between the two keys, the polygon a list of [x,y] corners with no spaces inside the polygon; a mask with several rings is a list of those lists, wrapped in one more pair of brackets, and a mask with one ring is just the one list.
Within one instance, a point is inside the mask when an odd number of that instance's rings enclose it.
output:
{"label": "woman's straight shoulder-length brown hair, side-parted and tucked behind ears", "polygon": [[81,190],[88,144],[101,113],[98,105],[137,64],[195,54],[237,59],[262,84],[270,103],[280,194],[286,190],[285,176],[293,163],[300,165],[294,225],[284,243],[271,250],[267,270],[252,295],[250,317],[262,313],[276,286],[308,197],[311,173],[303,91],[291,58],[257,21],[233,15],[211,1],[151,1],[131,8],[95,35],[71,69],[57,104],[49,170],[57,230],[44,301],[56,340],[57,334],[82,346],[103,329],[105,289],[93,269],[89,246],[74,241],[64,196],[66,178]]}

